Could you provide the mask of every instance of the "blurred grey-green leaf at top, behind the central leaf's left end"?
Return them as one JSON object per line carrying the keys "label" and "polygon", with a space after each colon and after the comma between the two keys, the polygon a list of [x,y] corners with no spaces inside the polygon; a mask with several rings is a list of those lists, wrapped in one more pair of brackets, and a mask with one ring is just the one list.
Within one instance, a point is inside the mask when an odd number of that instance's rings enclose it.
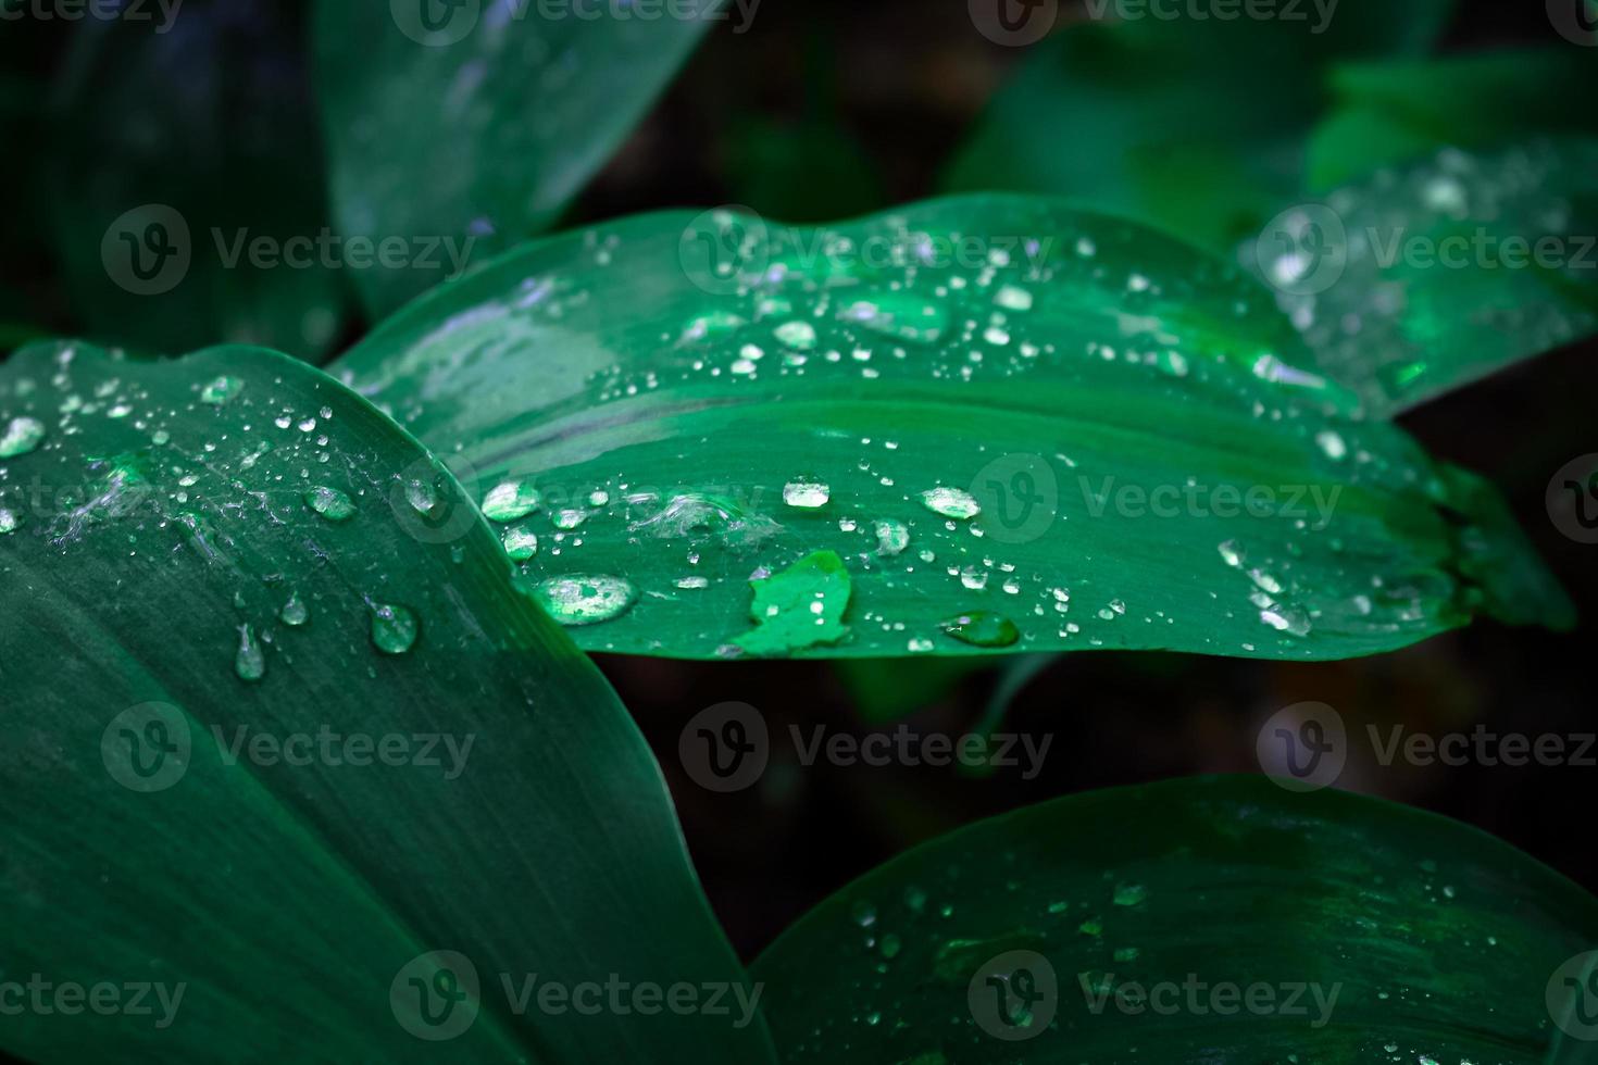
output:
{"label": "blurred grey-green leaf at top, behind the central leaf's left end", "polygon": [[[475,263],[547,228],[705,30],[730,18],[725,0],[652,10],[655,18],[623,18],[626,8],[612,5],[593,19],[580,5],[534,0],[316,0],[340,232],[449,240]],[[363,273],[368,310],[392,311],[454,273],[457,263],[441,259]]]}

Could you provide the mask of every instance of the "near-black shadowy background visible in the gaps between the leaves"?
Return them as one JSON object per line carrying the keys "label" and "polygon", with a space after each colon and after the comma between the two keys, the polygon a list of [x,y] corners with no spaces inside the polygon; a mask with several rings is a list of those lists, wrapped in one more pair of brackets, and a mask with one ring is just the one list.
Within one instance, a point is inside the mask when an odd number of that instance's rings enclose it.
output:
{"label": "near-black shadowy background visible in the gaps between the leaves", "polygon": [[[300,18],[300,5],[280,6]],[[0,24],[0,97],[8,105],[30,105],[35,86],[59,73],[70,30],[62,22]],[[1449,48],[1550,40],[1542,3],[1483,0],[1462,5]],[[933,195],[943,164],[1023,56],[983,38],[957,0],[764,0],[746,35],[722,24],[708,37],[567,222],[719,203],[753,203],[802,222]],[[27,206],[29,182],[37,180],[34,148],[26,139],[5,144],[0,326],[21,308],[40,331],[70,335],[81,324]],[[353,323],[350,335],[361,329]],[[10,348],[18,337],[0,340]],[[1005,723],[1008,731],[1055,736],[1032,781],[1015,770],[976,779],[949,768],[799,766],[788,723],[873,728],[829,664],[601,656],[662,762],[733,944],[751,956],[869,867],[1021,803],[1194,773],[1258,771],[1259,726],[1299,701],[1334,706],[1361,738],[1365,723],[1398,722],[1438,734],[1478,722],[1531,736],[1598,730],[1588,658],[1598,548],[1561,536],[1542,501],[1560,466],[1598,452],[1595,354],[1598,345],[1553,353],[1403,420],[1435,455],[1483,473],[1510,497],[1577,600],[1582,624],[1569,634],[1480,623],[1395,655],[1326,664],[1061,656],[1021,690]],[[989,707],[999,669],[951,675],[909,723],[972,730]],[[759,707],[773,734],[772,768],[756,787],[732,795],[698,787],[676,755],[684,723],[722,701]],[[1342,787],[1459,818],[1598,889],[1598,851],[1585,822],[1598,770],[1381,766],[1363,739],[1354,750]]]}

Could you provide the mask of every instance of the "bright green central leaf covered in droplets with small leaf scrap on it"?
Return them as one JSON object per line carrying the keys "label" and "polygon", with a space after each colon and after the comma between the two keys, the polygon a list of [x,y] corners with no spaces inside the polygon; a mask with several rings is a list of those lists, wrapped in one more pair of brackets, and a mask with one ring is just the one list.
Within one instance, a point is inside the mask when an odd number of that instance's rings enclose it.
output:
{"label": "bright green central leaf covered in droplets with small leaf scrap on it", "polygon": [[849,631],[823,596],[826,639],[785,653],[1336,658],[1477,612],[1563,620],[1534,560],[1477,565],[1524,557],[1518,533],[1294,369],[1269,303],[1047,198],[673,212],[516,251],[336,372],[479,469],[588,650],[737,653],[749,581],[826,551]]}

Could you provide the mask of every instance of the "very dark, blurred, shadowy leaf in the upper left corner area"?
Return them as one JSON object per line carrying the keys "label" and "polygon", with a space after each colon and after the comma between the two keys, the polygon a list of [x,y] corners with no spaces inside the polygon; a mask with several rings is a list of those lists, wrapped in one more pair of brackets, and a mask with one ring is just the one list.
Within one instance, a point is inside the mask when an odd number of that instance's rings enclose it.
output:
{"label": "very dark, blurred, shadowy leaf in the upper left corner area", "polygon": [[[72,311],[166,353],[237,342],[315,359],[344,281],[294,5],[149,3],[88,19],[56,86],[51,225]],[[283,257],[256,255],[265,240]],[[296,241],[296,244],[289,244]]]}

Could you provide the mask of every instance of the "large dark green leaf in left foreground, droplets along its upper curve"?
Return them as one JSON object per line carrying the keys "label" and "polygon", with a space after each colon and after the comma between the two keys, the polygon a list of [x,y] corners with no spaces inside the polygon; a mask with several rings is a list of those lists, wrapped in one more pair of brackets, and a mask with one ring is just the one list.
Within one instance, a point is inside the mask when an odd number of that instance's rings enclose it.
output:
{"label": "large dark green leaf in left foreground, droplets along its upper curve", "polygon": [[[743,977],[633,722],[392,422],[272,351],[40,345],[0,426],[0,977],[187,985],[169,1027],[27,1011],[5,1049],[769,1060],[757,1022],[513,1011],[500,974]],[[479,995],[428,1028],[435,950]]]}

